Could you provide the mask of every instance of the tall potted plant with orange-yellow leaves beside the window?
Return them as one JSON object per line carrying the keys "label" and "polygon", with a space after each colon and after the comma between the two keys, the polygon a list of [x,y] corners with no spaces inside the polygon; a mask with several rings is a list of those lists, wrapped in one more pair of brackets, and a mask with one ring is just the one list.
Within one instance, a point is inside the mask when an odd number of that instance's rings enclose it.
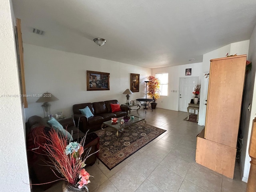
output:
{"label": "tall potted plant with orange-yellow leaves beside the window", "polygon": [[147,94],[152,97],[153,102],[151,103],[151,108],[156,108],[156,100],[160,98],[160,80],[154,76],[148,77],[148,90]]}

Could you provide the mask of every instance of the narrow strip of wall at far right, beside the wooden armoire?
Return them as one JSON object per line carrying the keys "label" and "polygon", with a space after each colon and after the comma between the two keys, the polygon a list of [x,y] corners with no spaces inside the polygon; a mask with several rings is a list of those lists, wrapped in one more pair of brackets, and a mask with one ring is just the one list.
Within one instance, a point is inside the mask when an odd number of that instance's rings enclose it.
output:
{"label": "narrow strip of wall at far right, beside the wooden armoire", "polygon": [[[243,145],[241,152],[241,165],[242,165],[242,180],[247,182],[250,170],[250,156],[248,154],[252,120],[256,114],[256,84],[255,84],[255,71],[256,71],[256,26],[250,38],[250,46],[247,60],[252,62],[252,70],[246,75],[244,87],[244,100],[242,108],[242,137]],[[251,104],[251,111],[248,111],[248,105]]]}

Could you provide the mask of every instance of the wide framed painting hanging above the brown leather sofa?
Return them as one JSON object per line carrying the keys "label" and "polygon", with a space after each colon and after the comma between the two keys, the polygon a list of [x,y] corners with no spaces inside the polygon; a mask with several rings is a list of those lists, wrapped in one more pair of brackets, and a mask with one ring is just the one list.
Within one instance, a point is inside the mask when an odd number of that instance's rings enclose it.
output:
{"label": "wide framed painting hanging above the brown leather sofa", "polygon": [[87,90],[109,90],[109,73],[87,71]]}

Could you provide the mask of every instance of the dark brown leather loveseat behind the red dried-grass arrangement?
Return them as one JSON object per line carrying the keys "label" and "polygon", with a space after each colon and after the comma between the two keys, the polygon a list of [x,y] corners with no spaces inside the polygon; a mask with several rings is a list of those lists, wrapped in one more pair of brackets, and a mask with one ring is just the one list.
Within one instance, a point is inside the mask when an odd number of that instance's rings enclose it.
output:
{"label": "dark brown leather loveseat behind the red dried-grass arrangement", "polygon": [[[73,142],[77,140],[80,141],[80,138],[85,136],[83,132],[81,132],[80,130],[78,130],[78,128],[76,128],[76,126],[74,126],[74,120],[72,118],[59,120],[59,123],[62,124],[63,128],[66,128],[66,130],[70,134],[73,132]],[[47,123],[47,121],[39,116],[31,116],[26,122],[28,166],[32,184],[42,184],[52,182],[58,179],[54,172],[51,170],[50,166],[46,166],[46,161],[49,161],[49,159],[46,155],[44,155],[44,151],[40,150],[40,148],[32,151],[32,149],[38,148],[37,142],[41,144],[45,142],[42,137],[42,132],[48,132],[50,129],[51,126]],[[99,137],[95,133],[91,133],[86,136],[84,149],[90,147],[92,147],[90,154],[96,152],[99,148]],[[98,154],[93,154],[86,159],[86,164],[94,164],[97,157]],[[58,176],[61,177],[61,175]],[[52,183],[42,185],[42,188],[47,189],[50,186],[52,186]]]}

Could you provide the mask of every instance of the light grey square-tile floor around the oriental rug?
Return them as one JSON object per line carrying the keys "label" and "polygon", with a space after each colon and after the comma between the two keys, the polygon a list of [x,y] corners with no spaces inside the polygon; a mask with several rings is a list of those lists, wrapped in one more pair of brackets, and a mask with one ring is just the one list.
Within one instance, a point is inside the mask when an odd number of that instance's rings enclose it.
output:
{"label": "light grey square-tile floor around the oriental rug", "polygon": [[[136,111],[131,112],[136,115]],[[147,124],[167,130],[111,171],[100,161],[86,170],[90,192],[245,192],[240,166],[234,179],[195,162],[196,135],[202,126],[188,121],[186,112],[156,108],[139,110]],[[39,190],[34,190],[39,191]],[[61,182],[46,192],[62,192]]]}

